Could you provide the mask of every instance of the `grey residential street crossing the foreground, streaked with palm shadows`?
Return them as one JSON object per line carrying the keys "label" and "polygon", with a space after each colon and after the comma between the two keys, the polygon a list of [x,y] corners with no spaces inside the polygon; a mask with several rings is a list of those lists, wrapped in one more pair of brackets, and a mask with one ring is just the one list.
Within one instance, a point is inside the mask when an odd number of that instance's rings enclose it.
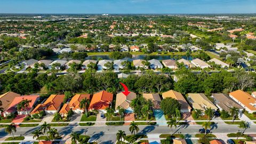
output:
{"label": "grey residential street crossing the foreground, streaked with palm shadows", "polygon": [[[90,141],[96,140],[99,143],[115,143],[116,141],[116,132],[118,130],[125,131],[126,134],[130,134],[129,126],[123,125],[123,126],[79,126],[75,124],[70,124],[65,127],[54,127],[57,129],[63,137],[65,137],[67,134],[70,134],[71,132],[79,132],[86,135],[90,135],[92,138]],[[140,133],[143,134],[161,134],[161,133],[171,133],[170,127],[167,126],[139,126]],[[173,132],[177,131],[181,132],[186,135],[187,138],[190,138],[190,134],[198,133],[198,129],[201,129],[201,125],[180,125],[177,127],[177,129],[174,129]],[[17,127],[17,132],[14,133],[15,136],[31,136],[31,132],[38,129],[37,127]],[[212,126],[212,132],[214,133],[231,133],[231,132],[237,132],[238,128],[237,125],[213,125]],[[256,133],[256,126],[251,125],[250,129],[247,129],[245,133]],[[4,132],[4,129],[0,129],[0,135],[1,137],[4,137],[8,135]],[[11,135],[9,135],[11,136]]]}

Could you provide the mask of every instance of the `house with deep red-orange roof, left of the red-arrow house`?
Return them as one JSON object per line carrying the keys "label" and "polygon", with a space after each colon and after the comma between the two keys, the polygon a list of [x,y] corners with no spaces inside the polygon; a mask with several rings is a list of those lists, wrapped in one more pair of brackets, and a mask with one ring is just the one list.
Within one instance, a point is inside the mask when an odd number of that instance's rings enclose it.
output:
{"label": "house with deep red-orange roof, left of the red-arrow house", "polygon": [[99,110],[106,112],[105,109],[111,106],[113,101],[113,93],[100,91],[93,94],[88,110]]}

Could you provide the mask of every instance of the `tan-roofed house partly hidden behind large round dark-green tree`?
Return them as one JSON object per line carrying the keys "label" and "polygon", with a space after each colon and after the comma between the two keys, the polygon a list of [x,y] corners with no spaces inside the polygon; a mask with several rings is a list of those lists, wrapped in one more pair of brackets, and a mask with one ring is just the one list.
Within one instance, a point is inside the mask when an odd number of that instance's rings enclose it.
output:
{"label": "tan-roofed house partly hidden behind large round dark-green tree", "polygon": [[173,98],[179,101],[181,108],[180,108],[180,112],[181,113],[190,113],[191,111],[191,107],[189,106],[188,102],[186,101],[186,99],[183,97],[183,95],[177,91],[167,91],[162,93],[162,97],[164,99],[166,98]]}

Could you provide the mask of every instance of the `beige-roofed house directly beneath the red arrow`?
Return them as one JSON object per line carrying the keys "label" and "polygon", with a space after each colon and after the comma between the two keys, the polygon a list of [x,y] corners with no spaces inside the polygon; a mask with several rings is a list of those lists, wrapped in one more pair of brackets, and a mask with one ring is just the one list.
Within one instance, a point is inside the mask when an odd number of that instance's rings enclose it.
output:
{"label": "beige-roofed house directly beneath the red arrow", "polygon": [[115,109],[117,109],[118,106],[124,109],[130,109],[131,108],[130,103],[135,98],[136,98],[136,93],[134,92],[130,92],[127,96],[123,92],[117,93]]}

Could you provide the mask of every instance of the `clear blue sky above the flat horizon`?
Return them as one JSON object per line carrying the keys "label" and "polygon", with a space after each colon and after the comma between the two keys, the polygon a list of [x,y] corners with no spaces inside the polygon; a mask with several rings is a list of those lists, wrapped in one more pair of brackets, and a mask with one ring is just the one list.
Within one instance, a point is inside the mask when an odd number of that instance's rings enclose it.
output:
{"label": "clear blue sky above the flat horizon", "polygon": [[256,13],[256,0],[0,0],[0,13]]}

